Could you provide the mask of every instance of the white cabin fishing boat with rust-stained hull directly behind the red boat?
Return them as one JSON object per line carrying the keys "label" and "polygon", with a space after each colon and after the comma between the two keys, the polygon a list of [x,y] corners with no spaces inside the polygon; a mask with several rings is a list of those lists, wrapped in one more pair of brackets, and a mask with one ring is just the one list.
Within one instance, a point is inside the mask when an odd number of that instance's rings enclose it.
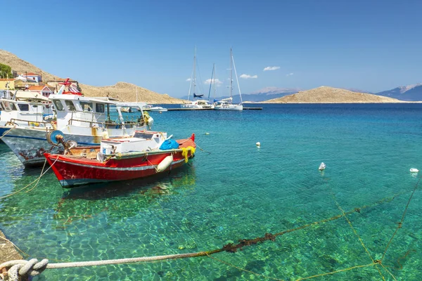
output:
{"label": "white cabin fishing boat with rust-stained hull directly behind the red boat", "polygon": [[151,127],[152,117],[141,112],[140,116],[123,117],[120,107],[110,112],[115,101],[89,98],[77,94],[59,93],[49,98],[56,110],[57,121],[43,126],[6,124],[11,129],[2,138],[4,143],[25,165],[44,163],[44,153],[61,153],[62,148],[47,142],[46,134],[52,130],[63,131],[65,139],[78,145],[98,145],[102,138],[132,136],[136,130]]}

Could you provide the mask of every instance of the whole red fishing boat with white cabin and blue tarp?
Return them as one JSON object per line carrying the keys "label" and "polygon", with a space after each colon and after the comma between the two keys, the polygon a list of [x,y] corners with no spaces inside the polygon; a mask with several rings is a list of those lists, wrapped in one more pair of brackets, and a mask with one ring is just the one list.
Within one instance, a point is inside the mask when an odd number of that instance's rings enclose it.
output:
{"label": "whole red fishing boat with white cabin and blue tarp", "polygon": [[195,155],[195,135],[181,140],[167,133],[136,131],[127,138],[108,138],[101,146],[77,147],[63,141],[60,131],[48,136],[51,143],[65,147],[65,155],[44,153],[63,188],[76,185],[125,181],[153,176],[178,168]]}

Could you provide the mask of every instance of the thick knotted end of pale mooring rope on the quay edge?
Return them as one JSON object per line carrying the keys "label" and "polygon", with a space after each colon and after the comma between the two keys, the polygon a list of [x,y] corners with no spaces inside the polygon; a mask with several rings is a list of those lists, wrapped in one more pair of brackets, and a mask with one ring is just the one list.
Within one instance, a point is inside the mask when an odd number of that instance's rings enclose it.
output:
{"label": "thick knotted end of pale mooring rope on the quay edge", "polygon": [[[37,259],[6,261],[0,264],[0,280],[18,281],[23,276],[36,276],[46,269],[48,259],[38,261]],[[7,270],[8,268],[8,270]],[[7,272],[5,272],[7,270]]]}

